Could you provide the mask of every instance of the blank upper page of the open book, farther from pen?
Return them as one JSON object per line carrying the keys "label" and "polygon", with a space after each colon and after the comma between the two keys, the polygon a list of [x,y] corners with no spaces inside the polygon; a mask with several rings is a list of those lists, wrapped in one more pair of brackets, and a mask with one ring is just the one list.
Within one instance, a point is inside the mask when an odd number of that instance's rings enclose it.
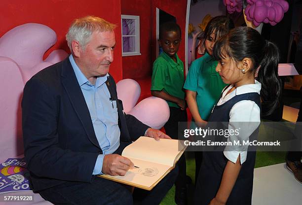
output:
{"label": "blank upper page of the open book, farther from pen", "polygon": [[174,167],[175,158],[181,152],[178,142],[177,139],[159,139],[156,141],[151,137],[140,137],[123,150],[122,156]]}

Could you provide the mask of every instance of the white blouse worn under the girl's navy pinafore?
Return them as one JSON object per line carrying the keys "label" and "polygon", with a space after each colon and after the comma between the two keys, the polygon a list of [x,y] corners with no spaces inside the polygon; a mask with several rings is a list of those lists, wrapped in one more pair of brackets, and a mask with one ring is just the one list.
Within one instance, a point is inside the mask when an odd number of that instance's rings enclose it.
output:
{"label": "white blouse worn under the girl's navy pinafore", "polygon": [[[230,85],[222,95],[222,98],[219,100],[217,105],[222,105],[225,102],[229,101],[233,97],[245,93],[258,93],[260,94],[261,90],[261,83],[255,80],[255,84],[247,84],[237,87],[227,96],[227,92],[232,88]],[[253,123],[246,123],[246,122],[253,122]],[[258,123],[255,123],[258,122]],[[229,130],[236,130],[239,129],[239,136],[230,135],[227,138],[227,141],[234,141],[234,140],[249,140],[250,135],[257,129],[258,125],[260,124],[260,107],[254,101],[240,101],[235,103],[230,112],[229,112]],[[240,164],[243,164],[246,161],[247,157],[247,148],[248,146],[240,146],[240,149],[237,147],[226,146],[224,150],[224,155],[227,159],[233,163],[236,163],[238,156],[240,154]],[[239,151],[235,151],[239,150]],[[241,151],[245,150],[245,151]]]}

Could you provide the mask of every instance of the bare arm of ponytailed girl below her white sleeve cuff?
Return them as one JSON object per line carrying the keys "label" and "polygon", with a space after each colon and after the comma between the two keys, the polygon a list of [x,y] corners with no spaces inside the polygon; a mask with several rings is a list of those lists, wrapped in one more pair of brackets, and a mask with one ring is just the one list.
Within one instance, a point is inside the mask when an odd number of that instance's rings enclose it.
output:
{"label": "bare arm of ponytailed girl below her white sleeve cuff", "polygon": [[227,161],[219,190],[216,194],[216,197],[210,202],[210,205],[225,205],[227,203],[227,199],[234,187],[240,169],[240,155],[238,156],[235,164],[231,161]]}

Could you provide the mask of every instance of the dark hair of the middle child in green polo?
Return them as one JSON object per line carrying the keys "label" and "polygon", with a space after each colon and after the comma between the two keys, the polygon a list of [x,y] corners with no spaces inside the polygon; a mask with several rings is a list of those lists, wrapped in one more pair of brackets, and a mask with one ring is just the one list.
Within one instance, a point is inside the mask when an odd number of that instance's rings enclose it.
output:
{"label": "dark hair of the middle child in green polo", "polygon": [[215,16],[207,24],[200,45],[200,50],[205,51],[205,41],[210,39],[210,35],[214,33],[214,41],[220,38],[222,35],[227,34],[229,30],[234,28],[233,21],[227,16]]}

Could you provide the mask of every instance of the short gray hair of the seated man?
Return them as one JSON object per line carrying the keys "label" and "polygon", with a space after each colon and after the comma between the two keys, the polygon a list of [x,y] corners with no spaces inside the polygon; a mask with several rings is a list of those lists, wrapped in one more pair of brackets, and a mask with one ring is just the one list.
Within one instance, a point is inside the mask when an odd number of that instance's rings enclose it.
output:
{"label": "short gray hair of the seated man", "polygon": [[115,24],[96,16],[85,16],[80,19],[75,19],[66,34],[68,47],[73,53],[72,41],[76,40],[81,48],[85,49],[94,31],[107,32],[113,31],[115,28]]}

